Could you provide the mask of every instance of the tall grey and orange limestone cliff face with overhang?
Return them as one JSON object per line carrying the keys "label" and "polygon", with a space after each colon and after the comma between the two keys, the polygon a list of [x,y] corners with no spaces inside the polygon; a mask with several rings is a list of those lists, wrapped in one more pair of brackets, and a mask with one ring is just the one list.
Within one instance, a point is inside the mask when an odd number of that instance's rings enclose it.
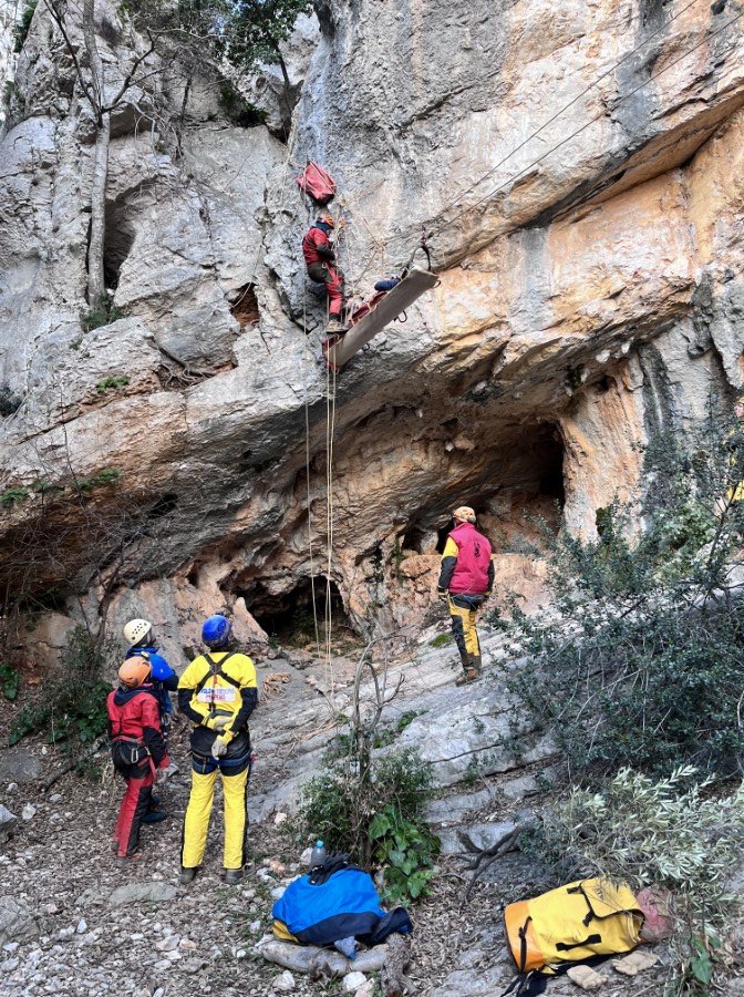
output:
{"label": "tall grey and orange limestone cliff face with overhang", "polygon": [[[113,122],[124,317],[87,333],[91,123],[40,10],[0,146],[0,388],[21,401],[2,487],[29,489],[0,513],[3,559],[42,505],[54,528],[80,520],[49,497],[72,475],[93,483],[86,515],[128,504],[151,524],[111,568],[115,619],[145,611],[183,645],[237,605],[258,633],[246,604],[260,620],[307,600],[312,573],[356,626],[392,627],[430,600],[437,530],[466,500],[499,577],[536,594],[513,553],[524,513],[558,503],[591,531],[634,486],[637,441],[742,384],[743,22],[684,8],[322,2],[296,45],[289,145],[231,125],[198,80],[182,121],[166,60]],[[127,49],[101,44],[113,82]],[[354,294],[422,224],[441,276],[338,379],[299,251],[307,158],[339,181]],[[83,546],[60,559],[84,588]]]}

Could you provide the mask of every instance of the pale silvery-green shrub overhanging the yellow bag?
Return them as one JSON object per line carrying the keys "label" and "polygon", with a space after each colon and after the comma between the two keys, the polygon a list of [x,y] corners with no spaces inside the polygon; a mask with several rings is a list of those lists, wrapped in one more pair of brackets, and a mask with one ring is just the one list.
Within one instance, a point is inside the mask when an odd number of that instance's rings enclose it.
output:
{"label": "pale silvery-green shrub overhanging the yellow bag", "polygon": [[694,768],[659,781],[622,769],[601,792],[574,790],[545,815],[537,846],[566,880],[600,875],[670,891],[670,994],[707,994],[734,906],[726,878],[744,845],[744,788],[709,795]]}

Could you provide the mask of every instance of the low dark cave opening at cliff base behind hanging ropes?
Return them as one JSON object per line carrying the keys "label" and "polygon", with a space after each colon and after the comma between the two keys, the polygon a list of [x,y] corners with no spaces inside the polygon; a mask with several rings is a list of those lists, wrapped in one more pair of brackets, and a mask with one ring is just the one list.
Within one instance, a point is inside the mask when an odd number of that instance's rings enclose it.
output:
{"label": "low dark cave opening at cliff base behind hanging ropes", "polygon": [[[289,592],[273,593],[258,583],[250,592],[238,592],[244,596],[254,619],[266,630],[269,639],[290,647],[314,646],[316,623],[312,599],[313,583],[309,576],[300,578]],[[327,599],[331,613],[331,633],[339,635],[354,633],[343,606],[339,586],[323,575],[314,579],[316,613],[318,629],[323,639]]]}

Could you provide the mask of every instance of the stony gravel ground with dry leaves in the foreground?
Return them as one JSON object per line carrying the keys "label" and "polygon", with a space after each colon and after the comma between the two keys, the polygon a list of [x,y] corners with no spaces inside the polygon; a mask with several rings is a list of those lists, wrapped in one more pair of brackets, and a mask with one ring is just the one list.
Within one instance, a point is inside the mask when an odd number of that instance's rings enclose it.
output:
{"label": "stony gravel ground with dry leaves in the foreground", "polygon": [[[270,702],[265,707],[271,708]],[[3,707],[3,742],[8,719]],[[270,931],[271,890],[302,871],[299,849],[283,826],[269,821],[251,829],[251,861],[244,883],[228,887],[221,881],[218,795],[203,872],[190,886],[178,884],[189,781],[187,734],[186,726],[175,730],[172,756],[180,772],[158,790],[168,819],[143,830],[144,860],[125,870],[115,865],[108,846],[123,793],[123,782],[111,769],[96,781],[65,775],[46,794],[38,782],[21,782],[10,792],[7,783],[0,784],[0,800],[19,819],[28,804],[34,808],[0,846],[0,896],[28,906],[41,929],[37,937],[11,942],[0,950],[3,997],[341,993],[339,980],[312,981],[300,974],[294,974],[291,990],[282,989],[282,984],[290,986],[282,969],[251,955],[254,942]],[[44,774],[62,757],[39,740],[29,739],[21,747],[41,761]],[[272,779],[276,773],[268,765],[261,773],[259,759],[252,791],[265,791]],[[432,896],[412,912],[410,979],[422,997],[497,997],[515,972],[500,927],[503,905],[548,885],[542,871],[527,859],[507,856],[492,866],[463,907],[468,877],[461,859],[443,859]],[[112,906],[112,892],[123,885],[169,897]],[[642,981],[612,979],[602,994],[661,994],[661,984],[657,990],[654,986],[653,977],[644,974]],[[580,991],[564,980],[550,984],[555,997],[569,993]]]}

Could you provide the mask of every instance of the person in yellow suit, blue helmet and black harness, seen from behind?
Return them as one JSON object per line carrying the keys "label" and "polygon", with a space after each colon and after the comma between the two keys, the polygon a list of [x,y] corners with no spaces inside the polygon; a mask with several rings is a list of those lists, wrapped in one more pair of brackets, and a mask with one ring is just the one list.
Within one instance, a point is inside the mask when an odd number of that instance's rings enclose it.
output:
{"label": "person in yellow suit, blue helmet and black harness, seen from behind", "polygon": [[246,862],[246,794],[250,774],[248,718],[258,702],[256,668],[247,655],[229,650],[232,627],[210,616],[202,628],[209,648],[195,658],[178,682],[178,709],[194,722],[192,793],[184,818],[180,882],[190,883],[202,865],[209,831],[217,772],[225,806],[225,880],[239,883]]}

